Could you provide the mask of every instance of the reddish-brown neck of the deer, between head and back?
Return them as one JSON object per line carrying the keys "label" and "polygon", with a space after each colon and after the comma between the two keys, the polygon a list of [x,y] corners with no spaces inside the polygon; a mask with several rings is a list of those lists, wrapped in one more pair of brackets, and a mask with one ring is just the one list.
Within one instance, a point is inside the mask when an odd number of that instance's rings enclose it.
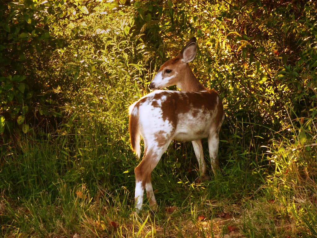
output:
{"label": "reddish-brown neck of the deer, between head and back", "polygon": [[207,90],[203,84],[199,83],[188,64],[184,69],[183,75],[184,78],[176,85],[180,90],[190,92]]}

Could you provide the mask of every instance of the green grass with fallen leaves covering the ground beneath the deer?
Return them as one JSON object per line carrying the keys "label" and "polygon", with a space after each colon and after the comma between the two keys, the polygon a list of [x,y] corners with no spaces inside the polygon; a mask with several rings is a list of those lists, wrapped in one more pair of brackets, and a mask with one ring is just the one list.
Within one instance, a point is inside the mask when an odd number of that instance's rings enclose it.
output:
{"label": "green grass with fallen leaves covering the ground beneath the deer", "polygon": [[[100,133],[100,128],[86,126],[87,133]],[[272,169],[264,177],[256,169],[245,169],[243,161],[250,158],[241,151],[246,148],[222,142],[221,148],[232,148],[236,161],[223,161],[219,176],[196,183],[197,162],[190,143],[173,143],[153,171],[158,211],[153,213],[146,203],[136,215],[133,168],[138,161],[133,153],[128,147],[122,150],[121,144],[109,146],[102,136],[77,136],[37,142],[16,137],[19,147],[6,156],[1,169],[3,237],[315,235],[314,164],[304,167],[305,151],[272,152]],[[63,148],[72,140],[72,149]]]}

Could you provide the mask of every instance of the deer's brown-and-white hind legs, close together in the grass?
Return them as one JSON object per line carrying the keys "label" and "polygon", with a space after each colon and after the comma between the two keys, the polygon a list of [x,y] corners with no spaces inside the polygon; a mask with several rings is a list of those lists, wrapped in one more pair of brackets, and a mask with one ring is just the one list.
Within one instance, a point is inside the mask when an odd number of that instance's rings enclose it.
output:
{"label": "deer's brown-and-white hind legs, close together in the grass", "polygon": [[135,174],[135,211],[139,212],[143,204],[144,189],[146,189],[146,197],[149,200],[152,209],[157,208],[152,182],[151,173],[155,166],[158,164],[161,156],[169,146],[171,141],[159,148],[146,149],[142,161],[134,169]]}

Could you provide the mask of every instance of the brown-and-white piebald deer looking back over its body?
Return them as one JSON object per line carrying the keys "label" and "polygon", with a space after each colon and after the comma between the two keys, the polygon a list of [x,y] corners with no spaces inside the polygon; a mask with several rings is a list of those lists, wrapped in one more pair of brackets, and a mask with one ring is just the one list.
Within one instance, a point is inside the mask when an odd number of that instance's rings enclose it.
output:
{"label": "brown-and-white piebald deer looking back over its body", "polygon": [[[165,62],[149,88],[155,90],[129,107],[130,142],[138,157],[140,136],[144,140],[142,161],[134,169],[135,210],[143,204],[144,189],[152,209],[157,204],[151,173],[172,139],[191,141],[200,174],[206,172],[202,138],[208,137],[211,168],[218,169],[219,130],[224,120],[223,104],[218,93],[198,82],[188,63],[196,56],[196,38],[192,38],[178,56]],[[181,91],[156,90],[175,85]]]}

